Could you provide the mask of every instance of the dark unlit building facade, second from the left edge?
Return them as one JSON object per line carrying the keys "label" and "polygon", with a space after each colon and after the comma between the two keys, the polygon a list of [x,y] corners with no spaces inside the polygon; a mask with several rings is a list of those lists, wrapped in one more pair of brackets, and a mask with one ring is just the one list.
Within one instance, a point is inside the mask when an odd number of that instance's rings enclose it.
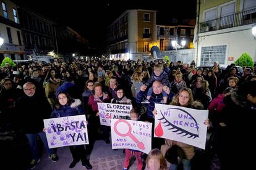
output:
{"label": "dark unlit building facade, second from the left edge", "polygon": [[58,51],[56,23],[25,7],[19,7],[19,17],[27,55]]}

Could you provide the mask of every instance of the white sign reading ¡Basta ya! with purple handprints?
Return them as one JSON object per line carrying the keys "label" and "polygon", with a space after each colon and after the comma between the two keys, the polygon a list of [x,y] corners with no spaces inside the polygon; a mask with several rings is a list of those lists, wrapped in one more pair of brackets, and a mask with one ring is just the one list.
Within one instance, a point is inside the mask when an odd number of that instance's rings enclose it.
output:
{"label": "white sign reading \u00a1Basta ya! with purple handprints", "polygon": [[49,148],[89,144],[85,115],[44,119]]}

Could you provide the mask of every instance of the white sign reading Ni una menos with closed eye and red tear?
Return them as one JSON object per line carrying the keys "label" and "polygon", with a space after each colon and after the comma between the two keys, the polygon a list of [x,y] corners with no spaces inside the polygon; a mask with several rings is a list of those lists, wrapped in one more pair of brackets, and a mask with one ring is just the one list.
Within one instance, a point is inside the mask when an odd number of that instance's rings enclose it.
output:
{"label": "white sign reading Ni una menos with closed eye and red tear", "polygon": [[154,136],[205,149],[208,110],[155,104]]}

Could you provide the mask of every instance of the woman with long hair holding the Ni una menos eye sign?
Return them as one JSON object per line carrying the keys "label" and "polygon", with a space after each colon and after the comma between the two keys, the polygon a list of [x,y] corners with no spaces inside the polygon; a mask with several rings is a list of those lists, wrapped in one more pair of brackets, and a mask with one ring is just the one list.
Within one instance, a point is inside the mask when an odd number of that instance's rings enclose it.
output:
{"label": "woman with long hair holding the Ni una menos eye sign", "polygon": [[[176,106],[181,106],[181,107],[190,107],[190,108],[199,108],[203,109],[203,105],[200,102],[197,102],[196,106],[193,107],[193,94],[192,91],[189,88],[183,87],[180,89],[179,93],[173,98],[173,101],[170,103],[171,105],[176,105]],[[200,103],[200,105],[198,105]],[[153,114],[156,115],[157,111],[154,110]],[[205,121],[205,124],[209,125],[208,119]],[[174,140],[170,139],[165,139],[165,144],[161,146],[161,152],[163,152],[163,155],[166,155],[166,152],[172,148],[173,151],[177,149],[177,152],[172,152],[170,154],[170,161],[171,161],[171,166],[170,169],[176,170],[177,169],[177,163],[178,160],[180,160],[183,164],[183,169],[188,170],[191,169],[191,162],[190,160],[194,157],[195,155],[195,148],[192,145],[184,144],[182,142],[177,142]],[[175,148],[175,149],[174,149]],[[176,157],[176,155],[178,157]]]}

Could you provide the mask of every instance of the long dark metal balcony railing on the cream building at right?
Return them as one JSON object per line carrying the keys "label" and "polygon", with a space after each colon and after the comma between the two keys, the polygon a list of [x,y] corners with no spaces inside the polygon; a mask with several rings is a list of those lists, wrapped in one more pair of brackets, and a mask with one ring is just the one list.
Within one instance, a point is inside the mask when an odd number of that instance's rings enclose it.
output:
{"label": "long dark metal balcony railing on the cream building at right", "polygon": [[256,22],[256,8],[227,15],[200,23],[200,33],[216,31],[235,26],[248,25]]}

